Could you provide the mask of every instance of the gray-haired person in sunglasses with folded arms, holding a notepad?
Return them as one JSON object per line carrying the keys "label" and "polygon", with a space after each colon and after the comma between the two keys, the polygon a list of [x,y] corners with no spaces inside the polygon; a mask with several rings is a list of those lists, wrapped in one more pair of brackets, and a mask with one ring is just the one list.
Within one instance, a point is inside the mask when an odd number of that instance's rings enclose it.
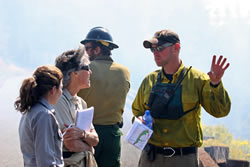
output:
{"label": "gray-haired person in sunglasses with folded arms, holding a notepad", "polygon": [[[56,67],[63,73],[63,93],[55,104],[58,111],[56,118],[63,137],[63,157],[67,167],[95,166],[94,149],[99,142],[98,135],[91,125],[90,131],[75,126],[77,110],[87,108],[86,102],[77,96],[80,89],[90,87],[91,70],[89,58],[82,46],[77,50],[69,50],[56,58]],[[73,127],[67,128],[69,125]]]}

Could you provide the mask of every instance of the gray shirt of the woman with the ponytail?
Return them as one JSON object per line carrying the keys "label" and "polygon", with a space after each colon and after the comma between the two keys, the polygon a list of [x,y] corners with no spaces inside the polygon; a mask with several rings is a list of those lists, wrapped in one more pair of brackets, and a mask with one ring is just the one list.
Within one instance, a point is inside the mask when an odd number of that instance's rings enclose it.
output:
{"label": "gray shirt of the woman with the ponytail", "polygon": [[63,166],[62,134],[52,106],[40,99],[23,114],[19,138],[24,167]]}

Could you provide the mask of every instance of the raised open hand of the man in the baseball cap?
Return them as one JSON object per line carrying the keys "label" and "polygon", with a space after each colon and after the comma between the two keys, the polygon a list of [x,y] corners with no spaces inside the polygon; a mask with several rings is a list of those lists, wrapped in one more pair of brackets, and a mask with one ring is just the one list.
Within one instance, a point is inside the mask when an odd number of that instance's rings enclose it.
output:
{"label": "raised open hand of the man in the baseball cap", "polygon": [[221,78],[224,75],[224,72],[229,67],[229,65],[230,65],[229,63],[227,63],[225,65],[226,61],[227,61],[227,58],[223,58],[223,56],[220,56],[218,61],[216,62],[216,55],[213,56],[211,69],[207,73],[209,75],[210,81],[213,85],[217,85],[220,83]]}

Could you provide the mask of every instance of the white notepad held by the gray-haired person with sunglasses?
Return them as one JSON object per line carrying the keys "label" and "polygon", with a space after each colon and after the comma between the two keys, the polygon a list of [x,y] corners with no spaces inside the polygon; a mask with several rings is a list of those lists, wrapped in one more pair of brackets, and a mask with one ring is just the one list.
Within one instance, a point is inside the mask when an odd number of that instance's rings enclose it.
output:
{"label": "white notepad held by the gray-haired person with sunglasses", "polygon": [[76,115],[76,127],[85,131],[90,131],[93,121],[93,115],[94,107],[78,110]]}

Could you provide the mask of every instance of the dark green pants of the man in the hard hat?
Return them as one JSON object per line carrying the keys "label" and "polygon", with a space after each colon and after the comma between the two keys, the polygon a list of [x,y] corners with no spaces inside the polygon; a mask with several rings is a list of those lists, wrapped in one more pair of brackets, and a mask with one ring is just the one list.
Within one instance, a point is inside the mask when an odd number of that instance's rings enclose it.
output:
{"label": "dark green pants of the man in the hard hat", "polygon": [[98,167],[120,167],[121,135],[117,125],[94,125],[99,136],[95,147]]}

